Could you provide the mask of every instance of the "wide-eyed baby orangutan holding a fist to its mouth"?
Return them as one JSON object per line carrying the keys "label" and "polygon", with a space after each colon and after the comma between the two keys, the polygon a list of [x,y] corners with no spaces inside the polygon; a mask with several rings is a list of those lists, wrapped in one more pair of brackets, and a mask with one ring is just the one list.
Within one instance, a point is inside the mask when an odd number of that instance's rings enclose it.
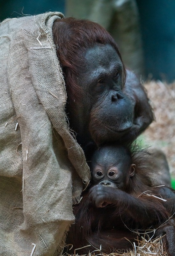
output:
{"label": "wide-eyed baby orangutan holding a fist to its mouth", "polygon": [[[150,165],[150,163],[152,165]],[[69,230],[67,244],[76,253],[100,249],[103,253],[133,249],[137,233],[156,229],[166,234],[168,255],[175,255],[175,193],[166,186],[151,184],[149,166],[154,159],[134,146],[107,145],[96,150],[91,158],[90,189],[73,208],[76,222]],[[127,239],[126,239],[127,238]],[[129,241],[130,242],[129,242]],[[70,252],[70,251],[69,251]],[[96,253],[99,253],[96,252]]]}

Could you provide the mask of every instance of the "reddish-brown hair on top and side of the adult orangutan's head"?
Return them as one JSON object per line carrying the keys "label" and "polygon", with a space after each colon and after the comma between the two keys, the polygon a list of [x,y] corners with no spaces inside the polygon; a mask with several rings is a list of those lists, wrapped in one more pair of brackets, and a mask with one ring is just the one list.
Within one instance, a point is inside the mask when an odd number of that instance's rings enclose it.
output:
{"label": "reddish-brown hair on top and side of the adult orangutan's head", "polygon": [[[110,44],[114,47],[121,59],[118,47],[111,35],[98,23],[88,20],[66,18],[55,21],[53,25],[54,42],[57,55],[62,64],[70,103],[80,96],[80,87],[77,86],[77,75],[83,65],[83,55],[87,49],[95,44]],[[123,84],[126,79],[124,69]]]}

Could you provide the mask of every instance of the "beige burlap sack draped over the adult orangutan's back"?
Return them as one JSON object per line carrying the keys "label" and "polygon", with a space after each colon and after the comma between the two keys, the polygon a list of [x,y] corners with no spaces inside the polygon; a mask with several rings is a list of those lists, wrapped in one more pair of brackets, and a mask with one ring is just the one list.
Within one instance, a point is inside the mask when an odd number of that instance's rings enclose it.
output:
{"label": "beige burlap sack draped over the adult orangutan's back", "polygon": [[66,122],[67,97],[52,37],[53,22],[62,17],[49,12],[0,24],[3,256],[59,254],[74,221],[72,200],[80,200],[90,179]]}

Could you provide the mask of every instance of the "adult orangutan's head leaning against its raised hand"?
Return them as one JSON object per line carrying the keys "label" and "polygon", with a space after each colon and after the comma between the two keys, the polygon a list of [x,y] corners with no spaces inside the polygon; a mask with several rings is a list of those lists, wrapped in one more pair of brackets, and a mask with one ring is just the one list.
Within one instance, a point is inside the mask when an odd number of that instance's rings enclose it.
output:
{"label": "adult orangutan's head leaning against its raised hand", "polygon": [[148,98],[125,70],[105,29],[65,18],[55,21],[53,35],[66,82],[69,125],[83,148],[91,141],[132,140],[147,128],[153,120]]}

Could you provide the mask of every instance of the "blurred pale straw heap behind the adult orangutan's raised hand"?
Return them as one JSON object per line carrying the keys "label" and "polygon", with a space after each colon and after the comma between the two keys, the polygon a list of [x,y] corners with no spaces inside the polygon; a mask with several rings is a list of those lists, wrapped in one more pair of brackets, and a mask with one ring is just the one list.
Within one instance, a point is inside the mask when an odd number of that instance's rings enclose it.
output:
{"label": "blurred pale straw heap behind the adult orangutan's raised hand", "polygon": [[151,100],[155,121],[144,132],[148,145],[162,149],[166,154],[170,171],[175,177],[175,83],[151,81],[145,84]]}

